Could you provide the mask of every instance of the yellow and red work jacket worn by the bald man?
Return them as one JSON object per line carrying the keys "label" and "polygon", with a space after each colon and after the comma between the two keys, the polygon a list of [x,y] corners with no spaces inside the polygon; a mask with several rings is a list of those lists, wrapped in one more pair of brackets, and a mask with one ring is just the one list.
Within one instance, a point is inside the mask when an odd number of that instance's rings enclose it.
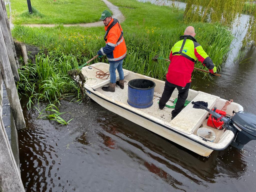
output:
{"label": "yellow and red work jacket worn by the bald man", "polygon": [[[187,39],[181,50],[180,48],[185,37]],[[179,51],[181,51],[180,53],[182,55],[178,54]],[[166,80],[181,87],[185,87],[187,83],[191,82],[191,73],[195,65],[194,61],[200,61],[209,71],[216,69],[211,58],[206,54],[202,46],[190,35],[180,37],[180,41],[173,46],[169,59],[171,62],[166,74]]]}

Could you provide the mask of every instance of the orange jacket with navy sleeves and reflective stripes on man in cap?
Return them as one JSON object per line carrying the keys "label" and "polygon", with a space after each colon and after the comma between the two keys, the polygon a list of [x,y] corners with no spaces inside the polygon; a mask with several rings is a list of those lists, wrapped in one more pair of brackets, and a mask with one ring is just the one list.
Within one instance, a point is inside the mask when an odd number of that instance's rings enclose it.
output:
{"label": "orange jacket with navy sleeves and reflective stripes on man in cap", "polygon": [[108,26],[105,26],[104,40],[106,46],[102,47],[97,54],[106,55],[111,63],[120,62],[126,56],[126,45],[123,37],[123,29],[117,19],[111,19]]}

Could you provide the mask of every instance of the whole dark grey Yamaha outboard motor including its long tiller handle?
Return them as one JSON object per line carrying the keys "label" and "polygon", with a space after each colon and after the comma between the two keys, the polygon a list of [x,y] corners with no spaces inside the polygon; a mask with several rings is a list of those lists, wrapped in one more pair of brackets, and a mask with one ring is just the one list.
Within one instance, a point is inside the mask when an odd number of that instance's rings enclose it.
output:
{"label": "whole dark grey Yamaha outboard motor including its long tiller handle", "polygon": [[[200,105],[200,107],[215,118],[223,121],[225,123],[224,129],[234,133],[234,140],[230,145],[242,149],[249,141],[256,140],[256,115],[239,111],[234,116],[224,117],[216,112],[216,107],[214,110],[210,110],[203,105]],[[235,112],[233,111],[233,113]]]}

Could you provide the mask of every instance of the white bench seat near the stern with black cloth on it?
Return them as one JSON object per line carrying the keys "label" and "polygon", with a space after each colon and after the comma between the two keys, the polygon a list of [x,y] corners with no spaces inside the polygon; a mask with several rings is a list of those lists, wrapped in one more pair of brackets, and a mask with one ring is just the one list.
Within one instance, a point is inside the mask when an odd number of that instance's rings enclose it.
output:
{"label": "white bench seat near the stern with black cloth on it", "polygon": [[[216,101],[219,100],[219,97],[215,95],[200,91],[198,93],[199,94],[192,101],[208,102],[209,109],[212,109]],[[193,133],[205,120],[208,111],[193,108],[191,102],[171,122],[165,122],[165,124],[189,135]]]}

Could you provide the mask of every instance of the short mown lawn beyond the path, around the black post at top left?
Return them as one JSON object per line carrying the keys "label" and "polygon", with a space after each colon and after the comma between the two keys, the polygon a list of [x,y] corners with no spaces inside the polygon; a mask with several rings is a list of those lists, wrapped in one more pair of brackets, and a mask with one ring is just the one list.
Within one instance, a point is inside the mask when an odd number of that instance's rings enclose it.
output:
{"label": "short mown lawn beyond the path, around the black post at top left", "polygon": [[108,9],[101,0],[31,0],[31,5],[38,12],[28,15],[27,1],[11,0],[14,24],[91,23]]}

